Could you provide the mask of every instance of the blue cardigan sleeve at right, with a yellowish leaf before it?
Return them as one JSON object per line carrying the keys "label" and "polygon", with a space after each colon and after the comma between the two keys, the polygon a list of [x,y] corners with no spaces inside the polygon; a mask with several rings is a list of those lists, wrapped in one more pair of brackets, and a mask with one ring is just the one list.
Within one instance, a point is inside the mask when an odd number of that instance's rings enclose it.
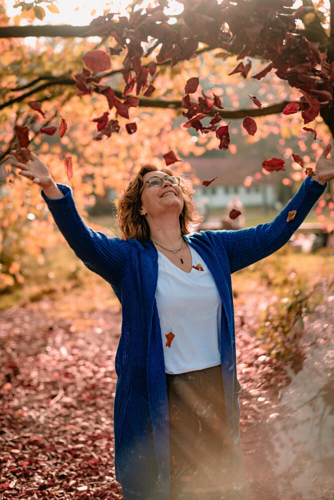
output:
{"label": "blue cardigan sleeve at right, with a yellowish leaf before it", "polygon": [[[295,195],[279,214],[266,224],[234,231],[206,231],[214,244],[222,244],[229,260],[230,272],[235,272],[260,260],[283,246],[299,227],[327,184],[306,177]],[[287,222],[288,212],[296,210]]]}

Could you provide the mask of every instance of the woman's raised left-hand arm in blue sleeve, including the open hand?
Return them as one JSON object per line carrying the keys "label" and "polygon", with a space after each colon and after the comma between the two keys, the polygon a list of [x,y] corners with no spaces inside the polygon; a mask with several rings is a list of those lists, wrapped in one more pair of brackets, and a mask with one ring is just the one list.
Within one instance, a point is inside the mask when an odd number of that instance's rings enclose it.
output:
{"label": "woman's raised left-hand arm in blue sleeve, including the open hand", "polygon": [[129,260],[129,245],[126,241],[110,238],[88,227],[76,210],[72,189],[64,184],[56,184],[47,166],[34,154],[31,156],[32,159],[26,163],[13,161],[12,165],[21,168],[21,175],[42,188],[41,195],[75,255],[88,269],[117,286]]}

